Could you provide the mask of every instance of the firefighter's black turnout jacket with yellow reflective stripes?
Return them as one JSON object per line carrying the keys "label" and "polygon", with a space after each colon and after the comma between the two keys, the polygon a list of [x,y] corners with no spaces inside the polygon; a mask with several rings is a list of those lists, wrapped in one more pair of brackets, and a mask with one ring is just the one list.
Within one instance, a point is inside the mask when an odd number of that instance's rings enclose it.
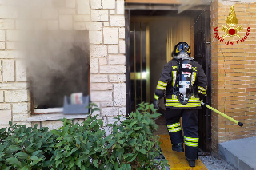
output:
{"label": "firefighter's black turnout jacket with yellow reflective stripes", "polygon": [[201,102],[199,95],[206,96],[207,77],[202,69],[202,65],[198,64],[197,61],[192,61],[192,69],[193,72],[191,75],[191,85],[194,90],[194,95],[190,97],[190,100],[186,105],[182,105],[178,101],[178,97],[173,93],[173,87],[178,71],[178,62],[174,59],[169,61],[162,69],[162,73],[154,93],[154,99],[158,100],[162,97],[165,97],[166,108],[200,109]]}

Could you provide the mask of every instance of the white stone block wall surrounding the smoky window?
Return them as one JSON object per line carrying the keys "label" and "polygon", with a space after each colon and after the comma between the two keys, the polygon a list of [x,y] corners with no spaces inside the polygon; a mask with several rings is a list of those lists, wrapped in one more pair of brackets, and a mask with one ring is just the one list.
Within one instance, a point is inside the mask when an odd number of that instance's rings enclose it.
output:
{"label": "white stone block wall surrounding the smoky window", "polygon": [[[123,0],[0,0],[0,128],[8,121],[31,125],[29,84],[18,50],[23,29],[89,30],[91,100],[108,122],[125,115],[124,26]],[[56,122],[32,125],[58,128]]]}

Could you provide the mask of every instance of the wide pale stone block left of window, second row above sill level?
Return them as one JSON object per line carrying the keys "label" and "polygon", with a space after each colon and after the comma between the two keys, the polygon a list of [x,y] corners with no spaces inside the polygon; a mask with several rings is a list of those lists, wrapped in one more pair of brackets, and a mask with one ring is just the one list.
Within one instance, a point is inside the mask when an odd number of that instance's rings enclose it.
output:
{"label": "wide pale stone block left of window, second row above sill level", "polygon": [[5,101],[8,103],[13,102],[26,102],[29,101],[28,91],[26,89],[13,90],[5,92]]}

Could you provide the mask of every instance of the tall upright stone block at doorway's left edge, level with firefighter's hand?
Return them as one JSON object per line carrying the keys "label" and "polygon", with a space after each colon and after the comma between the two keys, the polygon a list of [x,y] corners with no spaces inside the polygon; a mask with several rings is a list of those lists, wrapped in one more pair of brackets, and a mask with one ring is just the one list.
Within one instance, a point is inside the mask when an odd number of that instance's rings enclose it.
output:
{"label": "tall upright stone block at doorway's left edge, level with firefighter's hand", "polygon": [[126,105],[126,84],[114,84],[114,106]]}

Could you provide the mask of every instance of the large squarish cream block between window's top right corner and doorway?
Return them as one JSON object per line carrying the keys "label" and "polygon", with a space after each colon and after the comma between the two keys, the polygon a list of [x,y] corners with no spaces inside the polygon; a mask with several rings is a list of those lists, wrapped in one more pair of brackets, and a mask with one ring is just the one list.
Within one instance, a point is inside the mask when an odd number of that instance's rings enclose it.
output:
{"label": "large squarish cream block between window's top right corner and doorway", "polygon": [[118,28],[103,28],[104,44],[118,44]]}

